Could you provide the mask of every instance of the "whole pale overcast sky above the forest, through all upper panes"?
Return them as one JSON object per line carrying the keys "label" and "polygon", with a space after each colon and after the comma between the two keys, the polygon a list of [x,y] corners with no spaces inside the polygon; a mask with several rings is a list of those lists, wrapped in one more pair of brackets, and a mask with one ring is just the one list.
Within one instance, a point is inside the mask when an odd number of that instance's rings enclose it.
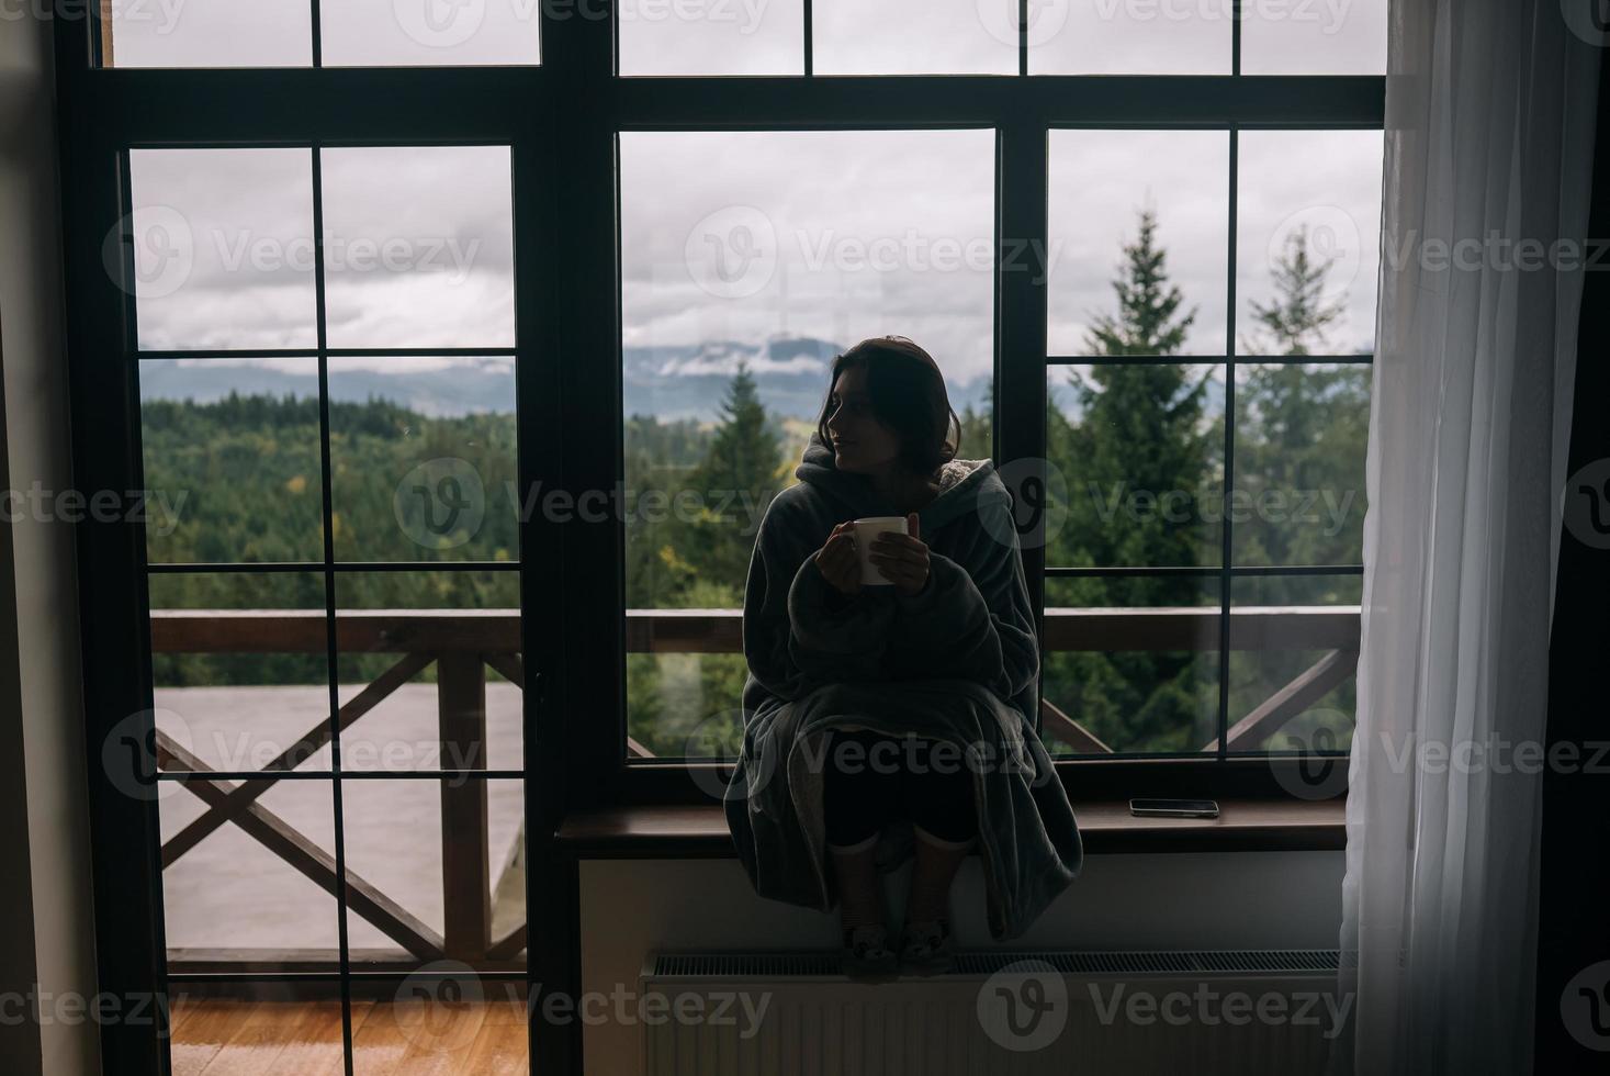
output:
{"label": "whole pale overcast sky above the forest, through all upper panes", "polygon": [[[507,50],[525,48],[526,27],[535,31],[525,0],[467,0],[462,10],[414,6],[423,2],[325,0],[327,58],[509,61]],[[736,19],[753,16],[737,29],[713,14],[681,23],[646,14],[665,8],[623,16],[623,63],[639,56],[644,69],[652,63],[724,69],[721,58],[734,55],[792,55],[799,0],[792,8],[784,0],[750,2],[758,6],[733,0],[720,8]],[[1059,14],[1066,26],[1095,19],[1074,37],[1079,48],[1106,40],[1098,50],[1104,63],[1167,55],[1179,68],[1187,53],[1217,55],[1217,47],[1201,43],[1222,29],[1209,0],[1153,2],[1162,5],[1158,11],[1193,16],[1143,21],[1140,0],[1053,3],[1040,14]],[[169,3],[175,6],[130,0],[119,8],[127,21],[118,29],[119,63],[306,61],[304,52],[293,55],[306,43],[306,18],[299,24],[295,18],[306,13],[304,3]],[[1009,56],[980,16],[990,3],[940,0],[919,8],[916,0],[818,0],[818,64],[824,71],[900,71],[902,63],[911,68],[921,60],[931,69],[990,69],[992,56]],[[1341,29],[1317,39],[1328,50],[1319,55],[1331,66],[1368,61],[1378,69],[1381,58],[1359,45],[1373,37],[1357,35],[1357,24],[1372,23],[1375,16],[1365,16],[1378,5],[1343,8]],[[166,24],[164,11],[171,13]],[[422,11],[431,21],[409,23],[423,18]],[[462,11],[478,11],[481,21],[460,43],[417,40],[428,37],[420,26],[462,35],[465,24],[452,23]],[[1101,18],[1103,11],[1111,18]],[[852,24],[858,34],[848,32]],[[1248,48],[1290,35],[1299,24],[1254,19]],[[916,42],[913,26],[931,32]],[[1058,48],[1072,55],[1072,42],[1063,40],[1069,34],[1048,34],[1045,55]],[[1187,39],[1196,43],[1180,45]],[[1125,42],[1137,40],[1151,43],[1125,53]],[[658,48],[634,52],[644,42]],[[1172,52],[1177,45],[1185,52]],[[1282,52],[1315,55],[1294,40]],[[955,380],[989,372],[993,159],[990,130],[623,134],[625,345],[753,345],[776,335],[853,343],[903,333],[927,346]],[[507,150],[327,150],[322,168],[332,346],[514,343]],[[308,150],[142,150],[134,153],[132,177],[142,346],[316,343]],[[1187,351],[1220,354],[1230,243],[1238,255],[1236,329],[1245,338],[1251,303],[1270,298],[1272,258],[1286,235],[1307,227],[1319,253],[1335,259],[1328,293],[1348,308],[1330,350],[1359,351],[1373,337],[1380,180],[1378,130],[1243,132],[1232,238],[1227,132],[1053,130],[1050,245],[1008,250],[1024,272],[1050,271],[1051,353],[1080,353],[1092,316],[1113,309],[1121,245],[1133,238],[1138,209],[1151,206],[1172,279],[1196,309]]]}

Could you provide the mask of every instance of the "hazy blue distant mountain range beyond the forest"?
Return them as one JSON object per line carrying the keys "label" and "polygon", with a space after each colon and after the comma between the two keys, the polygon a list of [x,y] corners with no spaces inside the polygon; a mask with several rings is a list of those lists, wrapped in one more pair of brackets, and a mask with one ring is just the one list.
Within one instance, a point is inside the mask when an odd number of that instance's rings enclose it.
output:
{"label": "hazy blue distant mountain range beyond the forest", "polygon": [[[832,358],[842,350],[842,345],[810,337],[626,348],[621,361],[625,412],[713,422],[739,361],[747,359],[768,411],[784,419],[815,419],[828,395]],[[375,361],[365,361],[364,369],[343,366],[340,359],[330,362],[332,399],[361,403],[380,396],[428,416],[514,408],[510,359],[460,359],[441,369],[399,372],[374,369]],[[982,409],[989,387],[989,377],[952,380],[950,403],[958,412],[969,403]],[[153,361],[140,367],[140,396],[147,399],[209,403],[232,390],[311,396],[317,391],[317,372],[312,359]]]}

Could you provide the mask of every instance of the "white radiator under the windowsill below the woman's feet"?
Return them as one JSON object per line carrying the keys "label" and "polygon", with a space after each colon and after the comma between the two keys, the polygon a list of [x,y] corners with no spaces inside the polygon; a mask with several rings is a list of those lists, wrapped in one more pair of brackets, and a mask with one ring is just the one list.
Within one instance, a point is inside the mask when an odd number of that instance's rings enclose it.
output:
{"label": "white radiator under the windowsill below the woman's feet", "polygon": [[858,983],[834,954],[655,954],[647,1076],[1306,1076],[1348,1028],[1336,950],[960,954]]}

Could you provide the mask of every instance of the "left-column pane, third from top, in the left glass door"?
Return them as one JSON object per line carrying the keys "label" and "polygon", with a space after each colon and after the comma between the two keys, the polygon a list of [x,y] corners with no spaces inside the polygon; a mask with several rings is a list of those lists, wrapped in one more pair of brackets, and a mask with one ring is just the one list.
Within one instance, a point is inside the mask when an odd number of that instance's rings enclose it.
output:
{"label": "left-column pane, third from top, in the left glass door", "polygon": [[150,594],[156,728],[185,759],[208,770],[330,768],[322,573],[164,573],[150,577]]}

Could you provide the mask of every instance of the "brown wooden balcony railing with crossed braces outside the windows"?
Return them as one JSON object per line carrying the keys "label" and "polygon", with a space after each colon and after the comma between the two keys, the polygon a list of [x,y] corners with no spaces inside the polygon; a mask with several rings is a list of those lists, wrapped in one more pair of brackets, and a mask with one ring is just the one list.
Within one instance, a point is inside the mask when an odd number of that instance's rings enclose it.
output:
{"label": "brown wooden balcony railing with crossed braces outside the windows", "polygon": [[[1230,617],[1228,646],[1235,651],[1322,651],[1323,656],[1264,704],[1240,717],[1227,746],[1259,744],[1288,717],[1312,706],[1352,675],[1359,649],[1357,607],[1238,607]],[[1222,617],[1216,607],[1179,609],[1046,609],[1046,652],[1064,651],[1217,651]],[[396,654],[398,659],[340,707],[343,731],[411,681],[436,665],[438,735],[441,759],[486,768],[486,668],[525,686],[520,654],[520,617],[512,609],[491,610],[354,610],[335,622],[341,654]],[[151,614],[151,644],[158,654],[324,654],[325,614],[320,609],[192,610]],[[633,654],[739,654],[742,612],[737,609],[633,609],[626,612],[626,649]],[[1045,733],[1082,754],[1111,749],[1051,702],[1042,702]],[[163,846],[163,865],[174,863],[221,826],[235,825],[280,860],[336,891],[333,859],[306,834],[267,810],[261,797],[285,773],[330,739],[320,720],[279,757],[261,767],[262,776],[242,781],[209,778],[214,770],[171,736],[158,731],[158,762],[164,770],[192,773],[184,781],[206,810]],[[1203,746],[1216,751],[1217,739]],[[628,739],[636,757],[652,757]],[[464,960],[480,968],[515,966],[526,944],[526,926],[493,937],[488,805],[485,781],[441,783],[441,863],[444,931],[438,934],[398,900],[346,868],[349,910],[372,923],[414,960]],[[193,968],[235,966],[238,958],[188,958]],[[322,962],[279,960],[272,966],[325,966]]]}

